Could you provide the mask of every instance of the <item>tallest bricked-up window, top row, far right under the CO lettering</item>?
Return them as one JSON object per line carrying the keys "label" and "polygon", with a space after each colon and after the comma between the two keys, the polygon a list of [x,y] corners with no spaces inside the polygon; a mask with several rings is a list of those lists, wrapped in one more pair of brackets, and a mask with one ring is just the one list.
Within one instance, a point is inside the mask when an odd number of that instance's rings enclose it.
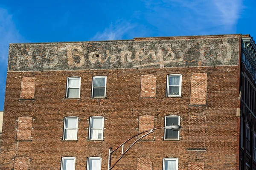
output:
{"label": "tallest bricked-up window, top row, far right under the CO lettering", "polygon": [[207,73],[194,73],[191,76],[191,105],[206,105]]}

